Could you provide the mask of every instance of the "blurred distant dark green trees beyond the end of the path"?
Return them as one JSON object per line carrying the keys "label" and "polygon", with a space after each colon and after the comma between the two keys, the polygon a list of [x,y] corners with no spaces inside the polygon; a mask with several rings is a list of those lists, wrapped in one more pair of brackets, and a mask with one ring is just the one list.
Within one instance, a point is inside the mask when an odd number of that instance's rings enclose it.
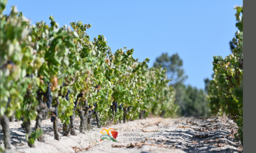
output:
{"label": "blurred distant dark green trees beyond the end of the path", "polygon": [[[162,66],[167,69],[167,76],[172,79],[170,85],[176,90],[175,104],[180,106],[178,111],[179,116],[209,116],[209,107],[207,106],[206,93],[202,89],[185,85],[184,81],[188,78],[183,69],[183,60],[178,53],[171,56],[168,53],[163,53],[156,58],[154,67]],[[209,79],[207,80],[209,84]]]}

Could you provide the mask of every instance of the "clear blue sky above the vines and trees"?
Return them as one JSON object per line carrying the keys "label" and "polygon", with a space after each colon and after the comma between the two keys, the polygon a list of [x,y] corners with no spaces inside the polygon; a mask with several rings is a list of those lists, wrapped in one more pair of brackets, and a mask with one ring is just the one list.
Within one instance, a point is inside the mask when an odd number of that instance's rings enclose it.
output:
{"label": "clear blue sky above the vines and trees", "polygon": [[234,5],[243,0],[9,0],[4,13],[16,5],[32,24],[53,15],[60,26],[91,24],[93,39],[104,35],[111,50],[134,48],[134,58],[150,59],[162,52],[178,53],[188,75],[185,84],[205,87],[211,79],[214,55],[226,57],[237,28]]}

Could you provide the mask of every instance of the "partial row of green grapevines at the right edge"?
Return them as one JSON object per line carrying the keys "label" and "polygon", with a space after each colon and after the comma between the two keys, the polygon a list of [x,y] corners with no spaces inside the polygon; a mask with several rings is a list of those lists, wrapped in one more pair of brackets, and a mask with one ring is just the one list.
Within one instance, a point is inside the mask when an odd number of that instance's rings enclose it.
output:
{"label": "partial row of green grapevines at the right edge", "polygon": [[[214,56],[214,77],[209,85],[208,101],[212,114],[227,114],[237,123],[238,137],[243,145],[243,7],[236,9],[236,31],[233,53],[223,59]],[[240,17],[242,13],[242,17]]]}

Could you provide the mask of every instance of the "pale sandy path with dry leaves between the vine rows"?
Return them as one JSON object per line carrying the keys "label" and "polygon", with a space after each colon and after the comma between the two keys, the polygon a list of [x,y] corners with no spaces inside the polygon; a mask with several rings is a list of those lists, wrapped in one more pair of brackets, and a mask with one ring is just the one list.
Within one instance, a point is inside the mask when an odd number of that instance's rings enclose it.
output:
{"label": "pale sandy path with dry leaves between the vine rows", "polygon": [[[102,135],[93,121],[93,129],[79,133],[80,119],[76,118],[77,136],[62,136],[54,140],[52,122],[42,121],[45,143],[35,142],[29,148],[26,133],[20,122],[10,122],[11,144],[15,153],[240,153],[243,149],[234,139],[236,124],[227,118],[146,118],[112,125],[118,132],[116,140],[100,141]],[[60,121],[59,121],[60,122]],[[35,126],[32,121],[32,127]],[[62,127],[62,124],[58,124]],[[33,128],[34,130],[34,128]],[[111,135],[111,134],[110,134]],[[2,140],[1,127],[1,146]],[[113,138],[113,136],[112,136]]]}

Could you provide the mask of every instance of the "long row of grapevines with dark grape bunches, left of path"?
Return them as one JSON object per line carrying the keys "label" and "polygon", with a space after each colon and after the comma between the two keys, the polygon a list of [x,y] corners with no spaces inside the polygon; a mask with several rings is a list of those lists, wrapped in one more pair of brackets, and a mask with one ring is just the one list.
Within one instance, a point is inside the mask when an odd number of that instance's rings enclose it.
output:
{"label": "long row of grapevines with dark grape bunches, left of path", "polygon": [[[134,49],[113,53],[103,35],[90,40],[86,30],[91,25],[81,21],[59,27],[50,16],[50,25],[44,21],[31,25],[15,7],[10,15],[3,15],[4,7],[1,3],[1,125],[5,137],[10,137],[6,120],[14,114],[23,121],[30,147],[36,139],[45,142],[41,122],[47,114],[56,140],[60,140],[58,119],[64,136],[76,135],[76,115],[81,119],[79,131],[85,133],[92,129],[93,118],[101,128],[150,113],[175,114],[175,91],[168,86],[166,70],[149,68],[149,59],[138,62]],[[9,34],[9,29],[18,30]],[[35,131],[31,120],[36,120]],[[10,149],[8,139],[4,144]]]}

